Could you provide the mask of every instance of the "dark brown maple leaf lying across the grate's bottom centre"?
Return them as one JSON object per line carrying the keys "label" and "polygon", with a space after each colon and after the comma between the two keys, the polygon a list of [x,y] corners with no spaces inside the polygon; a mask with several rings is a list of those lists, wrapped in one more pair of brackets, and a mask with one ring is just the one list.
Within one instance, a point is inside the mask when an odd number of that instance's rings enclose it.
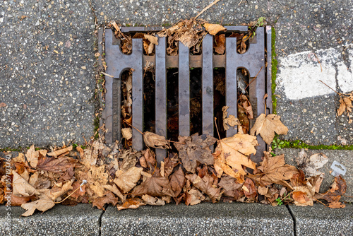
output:
{"label": "dark brown maple leaf lying across the grate's bottom centre", "polygon": [[179,151],[179,158],[181,158],[184,168],[191,173],[195,173],[198,163],[213,165],[214,158],[210,146],[216,140],[216,138],[205,134],[198,136],[197,133],[190,137],[179,136],[179,143],[174,143],[174,146]]}

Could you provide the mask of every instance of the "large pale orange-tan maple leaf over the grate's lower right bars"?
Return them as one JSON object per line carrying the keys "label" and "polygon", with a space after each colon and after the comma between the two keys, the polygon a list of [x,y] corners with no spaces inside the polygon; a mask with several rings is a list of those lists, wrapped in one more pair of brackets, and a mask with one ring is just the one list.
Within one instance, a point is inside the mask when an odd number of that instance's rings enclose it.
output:
{"label": "large pale orange-tan maple leaf over the grate's lower right bars", "polygon": [[[242,184],[244,175],[246,175],[242,166],[253,170],[256,168],[256,164],[248,158],[248,155],[256,153],[255,146],[257,144],[256,137],[249,134],[235,134],[218,141],[215,153],[213,153],[217,177],[221,177],[222,173],[225,172]],[[234,170],[237,170],[237,172],[234,172]]]}

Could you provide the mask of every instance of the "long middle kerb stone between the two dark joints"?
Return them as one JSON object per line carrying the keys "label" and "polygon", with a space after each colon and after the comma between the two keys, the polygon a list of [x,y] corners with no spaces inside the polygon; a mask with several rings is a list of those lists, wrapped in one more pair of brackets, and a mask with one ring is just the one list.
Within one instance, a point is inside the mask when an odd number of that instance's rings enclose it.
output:
{"label": "long middle kerb stone between the two dark joints", "polygon": [[101,235],[294,235],[285,206],[259,203],[167,204],[119,211],[109,206]]}

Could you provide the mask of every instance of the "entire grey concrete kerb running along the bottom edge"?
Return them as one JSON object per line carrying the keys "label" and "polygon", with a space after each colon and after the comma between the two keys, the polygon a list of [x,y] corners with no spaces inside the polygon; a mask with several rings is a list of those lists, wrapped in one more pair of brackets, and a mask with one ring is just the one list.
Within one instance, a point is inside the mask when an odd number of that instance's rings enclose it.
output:
{"label": "entire grey concrete kerb running along the bottom edge", "polygon": [[89,204],[58,205],[44,213],[20,217],[0,206],[0,235],[352,235],[353,204],[345,208],[268,206],[259,203],[167,204],[136,210],[107,211]]}

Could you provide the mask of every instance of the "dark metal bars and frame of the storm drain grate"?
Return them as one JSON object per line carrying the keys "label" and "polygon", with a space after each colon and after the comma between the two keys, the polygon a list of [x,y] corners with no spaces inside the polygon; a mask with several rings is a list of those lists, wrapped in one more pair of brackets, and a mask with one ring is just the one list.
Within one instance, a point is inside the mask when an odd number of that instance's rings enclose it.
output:
{"label": "dark metal bars and frame of the storm drain grate", "polygon": [[[247,26],[227,26],[227,33],[244,33]],[[121,28],[123,33],[151,32],[159,28]],[[166,37],[158,39],[155,46],[155,54],[147,56],[143,54],[143,40],[132,40],[132,53],[124,54],[119,47],[112,30],[105,31],[105,54],[107,73],[114,78],[106,76],[106,107],[104,111],[105,135],[107,143],[113,143],[121,139],[121,74],[133,69],[132,73],[132,124],[143,131],[143,69],[146,63],[155,65],[155,133],[167,136],[167,69],[177,68],[178,71],[178,120],[179,135],[190,136],[191,131],[191,68],[201,68],[201,123],[202,133],[214,136],[214,80],[215,68],[225,69],[225,105],[229,107],[228,114],[237,117],[237,69],[246,69],[249,73],[249,101],[253,108],[254,119],[265,112],[263,97],[265,93],[271,98],[271,28],[260,27],[256,35],[249,40],[249,49],[244,54],[237,52],[237,37],[226,37],[225,54],[213,53],[213,36],[206,35],[202,41],[202,53],[191,55],[189,49],[179,42],[179,52],[176,56],[166,52]],[[267,61],[266,61],[267,60]],[[261,69],[262,68],[262,69]],[[257,75],[257,76],[256,76]],[[146,91],[145,91],[146,92]],[[272,102],[267,100],[268,112],[272,112]],[[253,122],[251,123],[253,124]],[[250,124],[250,125],[251,125]],[[237,129],[229,129],[225,136],[237,134]],[[261,161],[261,155],[265,151],[266,144],[258,136],[257,155],[251,157],[254,161]],[[133,129],[133,148],[143,149],[143,136]],[[157,160],[163,160],[165,151],[156,150]]]}

